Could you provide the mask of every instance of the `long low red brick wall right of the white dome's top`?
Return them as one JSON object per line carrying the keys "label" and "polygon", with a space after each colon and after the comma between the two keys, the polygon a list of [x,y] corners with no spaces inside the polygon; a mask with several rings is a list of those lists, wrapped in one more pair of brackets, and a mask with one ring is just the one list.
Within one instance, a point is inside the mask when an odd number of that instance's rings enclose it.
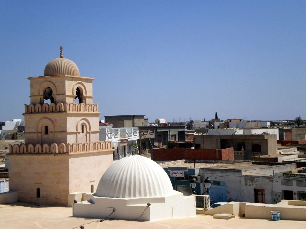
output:
{"label": "long low red brick wall right of the white dome's top", "polygon": [[175,161],[182,159],[218,159],[218,160],[233,160],[233,148],[228,149],[152,149],[152,160],[154,161]]}

